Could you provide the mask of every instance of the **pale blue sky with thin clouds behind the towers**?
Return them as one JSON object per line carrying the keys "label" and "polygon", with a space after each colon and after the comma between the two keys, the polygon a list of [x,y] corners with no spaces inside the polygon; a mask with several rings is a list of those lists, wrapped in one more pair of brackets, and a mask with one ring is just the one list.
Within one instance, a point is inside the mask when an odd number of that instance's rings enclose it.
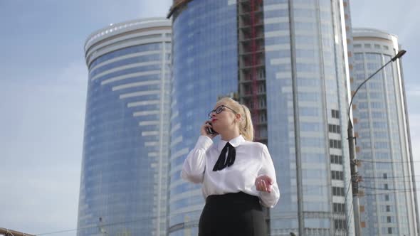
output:
{"label": "pale blue sky with thin clouds behind the towers", "polygon": [[[87,88],[85,39],[110,23],[165,16],[170,2],[0,0],[0,227],[32,234],[75,229]],[[420,161],[415,72],[420,2],[395,3],[354,0],[352,23],[393,33],[407,50],[403,68],[411,139],[414,159]]]}

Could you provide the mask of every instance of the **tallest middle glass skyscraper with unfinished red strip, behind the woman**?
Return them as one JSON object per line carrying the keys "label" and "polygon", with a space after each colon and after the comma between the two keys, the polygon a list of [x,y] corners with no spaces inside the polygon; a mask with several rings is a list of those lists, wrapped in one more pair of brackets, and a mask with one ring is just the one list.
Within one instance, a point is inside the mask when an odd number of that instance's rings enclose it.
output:
{"label": "tallest middle glass skyscraper with unfinished red strip, behind the woman", "polygon": [[169,235],[196,235],[204,199],[179,173],[226,95],[251,108],[275,164],[268,234],[354,234],[346,14],[341,0],[174,1]]}

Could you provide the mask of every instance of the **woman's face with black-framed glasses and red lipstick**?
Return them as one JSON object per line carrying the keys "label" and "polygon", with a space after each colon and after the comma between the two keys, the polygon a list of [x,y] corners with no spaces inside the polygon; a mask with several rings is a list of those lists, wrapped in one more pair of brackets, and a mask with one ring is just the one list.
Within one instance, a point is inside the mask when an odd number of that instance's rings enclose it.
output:
{"label": "woman's face with black-framed glasses and red lipstick", "polygon": [[[226,107],[221,107],[226,106]],[[235,126],[236,114],[228,108],[229,105],[223,102],[216,103],[214,110],[222,109],[218,114],[217,112],[211,113],[211,126],[214,131],[220,133],[221,130],[231,130]]]}

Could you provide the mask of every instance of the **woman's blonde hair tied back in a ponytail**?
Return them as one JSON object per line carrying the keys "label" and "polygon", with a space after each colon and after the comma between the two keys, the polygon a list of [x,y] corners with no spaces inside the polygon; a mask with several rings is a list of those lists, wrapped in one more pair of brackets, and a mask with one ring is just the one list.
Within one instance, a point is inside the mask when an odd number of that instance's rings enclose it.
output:
{"label": "woman's blonde hair tied back in a ponytail", "polygon": [[246,105],[240,104],[230,97],[223,97],[217,103],[224,103],[229,108],[235,110],[236,113],[241,114],[241,121],[239,122],[239,133],[245,140],[253,141],[253,125],[251,119],[251,112]]}

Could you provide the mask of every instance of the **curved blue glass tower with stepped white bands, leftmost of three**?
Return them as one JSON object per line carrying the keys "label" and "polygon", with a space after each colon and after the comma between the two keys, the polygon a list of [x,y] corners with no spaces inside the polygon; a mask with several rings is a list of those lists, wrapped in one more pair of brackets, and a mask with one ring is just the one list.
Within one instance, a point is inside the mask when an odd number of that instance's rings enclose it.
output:
{"label": "curved blue glass tower with stepped white bands, leftmost of three", "polygon": [[78,235],[166,235],[171,22],[88,37]]}

